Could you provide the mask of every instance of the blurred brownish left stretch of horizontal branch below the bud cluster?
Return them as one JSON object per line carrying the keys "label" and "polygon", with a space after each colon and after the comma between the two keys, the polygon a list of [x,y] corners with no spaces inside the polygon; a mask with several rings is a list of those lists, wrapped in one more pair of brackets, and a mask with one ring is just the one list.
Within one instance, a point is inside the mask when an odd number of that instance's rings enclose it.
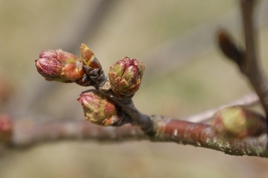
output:
{"label": "blurred brownish left stretch of horizontal branch below the bud cluster", "polygon": [[37,143],[63,140],[128,141],[145,140],[147,136],[138,126],[104,127],[89,121],[61,121],[23,128],[14,127],[11,147],[25,148]]}

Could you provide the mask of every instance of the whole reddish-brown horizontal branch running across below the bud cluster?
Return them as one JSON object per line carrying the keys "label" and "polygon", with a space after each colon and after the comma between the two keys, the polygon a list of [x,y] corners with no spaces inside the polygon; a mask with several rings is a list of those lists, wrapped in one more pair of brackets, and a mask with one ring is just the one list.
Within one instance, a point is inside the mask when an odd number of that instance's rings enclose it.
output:
{"label": "whole reddish-brown horizontal branch running across below the bud cluster", "polygon": [[[208,124],[180,121],[169,117],[152,116],[154,142],[175,142],[219,150],[229,155],[255,155],[268,158],[267,134],[258,137],[224,138]],[[65,121],[20,128],[16,126],[11,148],[28,148],[37,143],[63,140],[129,141],[148,140],[138,126],[103,127],[89,121]]]}

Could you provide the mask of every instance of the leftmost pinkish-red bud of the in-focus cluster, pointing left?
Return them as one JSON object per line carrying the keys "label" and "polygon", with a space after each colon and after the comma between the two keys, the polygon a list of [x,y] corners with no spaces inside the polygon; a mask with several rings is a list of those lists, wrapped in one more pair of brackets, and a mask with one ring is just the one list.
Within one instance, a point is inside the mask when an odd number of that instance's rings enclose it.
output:
{"label": "leftmost pinkish-red bud of the in-focus cluster, pointing left", "polygon": [[75,55],[61,49],[44,50],[35,60],[37,71],[47,81],[72,83],[83,77],[83,63]]}

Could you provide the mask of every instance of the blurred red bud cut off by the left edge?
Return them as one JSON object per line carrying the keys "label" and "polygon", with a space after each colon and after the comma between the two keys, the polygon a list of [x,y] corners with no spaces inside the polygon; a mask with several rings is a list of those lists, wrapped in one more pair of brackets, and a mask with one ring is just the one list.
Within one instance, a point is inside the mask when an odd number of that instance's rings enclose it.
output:
{"label": "blurred red bud cut off by the left edge", "polygon": [[8,143],[11,141],[13,133],[13,124],[11,118],[7,114],[0,115],[0,143]]}

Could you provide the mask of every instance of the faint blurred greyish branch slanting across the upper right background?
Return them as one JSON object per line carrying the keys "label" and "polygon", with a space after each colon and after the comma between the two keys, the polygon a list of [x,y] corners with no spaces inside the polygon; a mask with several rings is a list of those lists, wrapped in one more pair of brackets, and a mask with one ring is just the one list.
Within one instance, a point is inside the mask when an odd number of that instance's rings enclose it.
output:
{"label": "faint blurred greyish branch slanting across the upper right background", "polygon": [[[260,28],[268,23],[268,1],[263,1],[258,13],[257,27]],[[231,12],[225,13],[213,20],[197,26],[185,33],[183,37],[172,37],[162,44],[148,50],[142,55],[149,65],[146,69],[148,76],[161,76],[167,71],[178,69],[189,62],[190,57],[193,57],[209,47],[214,47],[215,40],[214,32],[219,28],[224,27],[229,32],[237,36],[241,32],[240,8],[234,8]],[[198,40],[196,40],[198,39]]]}

